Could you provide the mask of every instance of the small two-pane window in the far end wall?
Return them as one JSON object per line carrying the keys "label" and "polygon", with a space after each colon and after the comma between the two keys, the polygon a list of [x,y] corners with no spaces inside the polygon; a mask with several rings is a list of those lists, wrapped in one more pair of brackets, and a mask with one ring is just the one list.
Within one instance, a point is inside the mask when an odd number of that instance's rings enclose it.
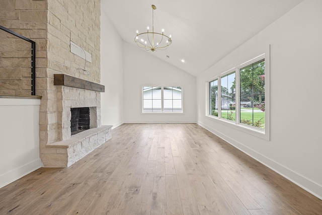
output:
{"label": "small two-pane window in the far end wall", "polygon": [[181,87],[143,87],[143,113],[182,113]]}

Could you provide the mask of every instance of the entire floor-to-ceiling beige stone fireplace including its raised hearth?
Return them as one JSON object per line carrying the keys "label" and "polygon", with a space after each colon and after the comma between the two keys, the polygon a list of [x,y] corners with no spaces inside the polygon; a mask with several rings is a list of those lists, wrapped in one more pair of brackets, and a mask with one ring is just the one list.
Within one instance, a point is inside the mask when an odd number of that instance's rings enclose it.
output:
{"label": "entire floor-to-ceiling beige stone fireplace including its raised hearth", "polygon": [[[111,126],[101,125],[104,91],[86,88],[101,82],[100,0],[7,0],[0,12],[1,25],[36,42],[40,158],[45,167],[70,166],[111,137]],[[57,74],[85,83],[54,85]],[[90,108],[91,128],[71,135],[70,109],[82,107]]]}

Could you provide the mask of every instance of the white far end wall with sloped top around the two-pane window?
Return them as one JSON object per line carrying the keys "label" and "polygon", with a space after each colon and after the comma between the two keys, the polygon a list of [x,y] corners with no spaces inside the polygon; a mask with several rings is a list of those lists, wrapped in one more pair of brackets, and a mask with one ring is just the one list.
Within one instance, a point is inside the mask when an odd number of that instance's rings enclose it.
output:
{"label": "white far end wall with sloped top around the two-pane window", "polygon": [[[196,122],[194,76],[124,41],[123,63],[125,122]],[[182,87],[184,114],[141,114],[142,86]]]}

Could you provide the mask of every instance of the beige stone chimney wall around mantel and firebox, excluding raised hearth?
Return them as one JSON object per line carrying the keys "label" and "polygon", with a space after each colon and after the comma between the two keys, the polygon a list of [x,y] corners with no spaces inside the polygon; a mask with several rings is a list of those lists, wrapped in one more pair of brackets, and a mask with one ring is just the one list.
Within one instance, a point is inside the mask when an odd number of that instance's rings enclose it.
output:
{"label": "beige stone chimney wall around mantel and firebox, excluding raised hearth", "polygon": [[[0,9],[0,24],[36,42],[36,95],[40,105],[40,157],[45,166],[59,149],[46,147],[70,137],[71,107],[97,107],[101,126],[99,92],[53,85],[54,74],[67,74],[100,83],[100,0],[5,0]],[[70,52],[70,41],[92,55],[85,60]]]}

